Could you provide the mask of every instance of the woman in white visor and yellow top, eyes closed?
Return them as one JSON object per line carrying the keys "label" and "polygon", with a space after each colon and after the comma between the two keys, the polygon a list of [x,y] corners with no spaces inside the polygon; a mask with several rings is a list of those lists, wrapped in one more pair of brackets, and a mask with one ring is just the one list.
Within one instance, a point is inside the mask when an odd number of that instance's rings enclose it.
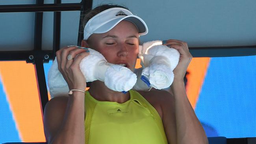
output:
{"label": "woman in white visor and yellow top, eyes closed", "polygon": [[[85,16],[87,24],[81,45],[97,50],[109,63],[125,64],[134,71],[139,35],[147,33],[147,26],[123,8],[103,5],[90,11]],[[111,18],[119,21],[113,22]],[[165,45],[180,52],[180,61],[173,71],[172,94],[163,90],[116,92],[102,81],[93,81],[84,94],[86,78],[79,63],[89,55],[88,50],[65,47],[56,52],[59,70],[71,91],[69,97],[53,98],[45,107],[47,141],[51,144],[207,144],[184,87],[183,78],[192,59],[187,44],[168,40]]]}

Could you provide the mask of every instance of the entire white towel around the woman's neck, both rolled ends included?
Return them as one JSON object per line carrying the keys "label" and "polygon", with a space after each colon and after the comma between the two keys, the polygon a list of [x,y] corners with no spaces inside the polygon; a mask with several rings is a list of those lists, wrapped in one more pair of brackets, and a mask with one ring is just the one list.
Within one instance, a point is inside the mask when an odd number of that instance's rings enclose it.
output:
{"label": "entire white towel around the woman's neck, both rolled ends included", "polygon": [[[139,46],[138,56],[143,68],[135,69],[137,78],[130,69],[108,63],[102,54],[90,48],[90,54],[82,59],[80,69],[87,82],[98,79],[115,91],[164,89],[173,82],[173,70],[178,65],[180,54],[161,44],[162,41],[152,41]],[[149,80],[150,86],[141,80],[142,76]],[[53,62],[48,73],[48,86],[51,97],[68,95],[69,87],[58,70],[57,61]]]}

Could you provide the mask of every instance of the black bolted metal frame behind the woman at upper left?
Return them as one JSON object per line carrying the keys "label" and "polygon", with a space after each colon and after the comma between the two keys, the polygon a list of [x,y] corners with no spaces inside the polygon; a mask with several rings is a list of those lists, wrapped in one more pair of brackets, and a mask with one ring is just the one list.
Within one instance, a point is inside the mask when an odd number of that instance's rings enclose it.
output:
{"label": "black bolted metal frame behind the woman at upper left", "polygon": [[[45,71],[43,63],[55,58],[56,51],[60,47],[60,28],[61,11],[81,11],[92,8],[92,0],[82,0],[80,3],[61,4],[61,0],[54,0],[54,4],[44,4],[44,0],[37,0],[36,4],[26,5],[0,5],[0,13],[8,12],[35,12],[35,31],[34,48],[31,51],[2,51],[0,52],[0,61],[26,60],[27,63],[33,63],[36,70],[37,86],[41,100],[42,111],[44,113],[45,105],[48,102],[48,92],[46,88]],[[54,12],[54,32],[53,32],[53,50],[42,50],[42,28],[43,12]],[[80,18],[80,25],[82,24]],[[82,31],[82,26],[79,26]],[[78,33],[78,45],[82,41],[81,33]]]}

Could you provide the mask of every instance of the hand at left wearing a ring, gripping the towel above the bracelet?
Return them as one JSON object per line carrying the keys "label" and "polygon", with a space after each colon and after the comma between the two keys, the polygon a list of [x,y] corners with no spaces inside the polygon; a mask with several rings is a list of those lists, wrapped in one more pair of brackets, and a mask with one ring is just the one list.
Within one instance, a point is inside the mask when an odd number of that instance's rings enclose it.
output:
{"label": "hand at left wearing a ring, gripping the towel above the bracelet", "polygon": [[[68,60],[68,55],[72,55],[73,59]],[[61,48],[56,52],[58,69],[67,82],[69,89],[85,90],[86,79],[80,70],[80,62],[84,57],[89,55],[89,51],[76,46]]]}

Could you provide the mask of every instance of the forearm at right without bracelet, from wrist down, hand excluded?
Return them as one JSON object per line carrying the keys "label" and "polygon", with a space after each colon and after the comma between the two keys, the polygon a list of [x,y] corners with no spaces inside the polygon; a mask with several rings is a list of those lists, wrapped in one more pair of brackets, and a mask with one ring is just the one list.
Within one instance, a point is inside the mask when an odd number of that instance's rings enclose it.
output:
{"label": "forearm at right without bracelet, from wrist down, hand excluded", "polygon": [[175,99],[177,144],[208,144],[204,129],[187,98],[184,81],[174,79],[171,90]]}

